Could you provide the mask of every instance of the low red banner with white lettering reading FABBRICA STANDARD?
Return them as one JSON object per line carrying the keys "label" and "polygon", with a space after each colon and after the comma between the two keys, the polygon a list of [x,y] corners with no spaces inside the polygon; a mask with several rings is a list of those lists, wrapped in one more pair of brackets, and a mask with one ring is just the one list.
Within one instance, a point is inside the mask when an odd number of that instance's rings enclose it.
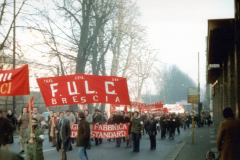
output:
{"label": "low red banner with white lettering reading FABBRICA STANDARD", "polygon": [[[129,124],[122,125],[92,125],[91,138],[120,138],[128,136]],[[71,125],[71,138],[76,138],[78,124]]]}

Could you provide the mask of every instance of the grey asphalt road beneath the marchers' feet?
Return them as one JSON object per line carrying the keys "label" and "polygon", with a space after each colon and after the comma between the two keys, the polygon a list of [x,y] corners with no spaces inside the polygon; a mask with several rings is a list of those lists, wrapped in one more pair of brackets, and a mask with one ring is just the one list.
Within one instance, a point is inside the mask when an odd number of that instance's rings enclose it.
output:
{"label": "grey asphalt road beneath the marchers' feet", "polygon": [[[108,142],[103,139],[103,144],[100,146],[93,146],[87,150],[89,160],[165,160],[168,155],[178,146],[187,136],[191,129],[184,131],[181,129],[181,134],[176,135],[174,140],[164,139],[162,140],[160,134],[157,135],[157,147],[156,150],[150,150],[150,140],[148,135],[142,135],[140,140],[140,152],[132,152],[132,148],[125,148],[125,144],[122,142],[121,147],[116,147],[115,142]],[[176,132],[177,133],[177,132]],[[18,153],[20,146],[18,144],[18,138],[14,139],[15,143],[9,145],[9,150]],[[51,147],[52,143],[48,142],[47,135],[43,143],[43,151],[45,160],[59,160],[60,152],[57,152],[55,148]],[[68,160],[80,159],[78,156],[78,148],[74,145],[73,150],[67,152]],[[25,156],[25,155],[23,155]]]}

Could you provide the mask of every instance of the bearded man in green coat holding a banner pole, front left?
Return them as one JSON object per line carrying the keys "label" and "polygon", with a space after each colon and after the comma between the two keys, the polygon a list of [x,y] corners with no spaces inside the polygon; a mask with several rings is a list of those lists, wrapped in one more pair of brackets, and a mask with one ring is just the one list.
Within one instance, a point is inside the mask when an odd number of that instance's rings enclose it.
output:
{"label": "bearded man in green coat holding a banner pole, front left", "polygon": [[[30,127],[32,127],[32,133]],[[26,129],[23,136],[24,142],[27,143],[26,160],[43,160],[44,131],[38,125],[36,118],[32,118],[32,126],[30,127]]]}

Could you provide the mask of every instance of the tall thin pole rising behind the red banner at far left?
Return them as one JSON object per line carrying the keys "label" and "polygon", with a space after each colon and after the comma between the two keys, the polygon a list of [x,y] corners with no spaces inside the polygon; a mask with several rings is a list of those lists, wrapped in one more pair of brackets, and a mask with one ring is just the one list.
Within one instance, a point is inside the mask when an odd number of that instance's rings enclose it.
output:
{"label": "tall thin pole rising behind the red banner at far left", "polygon": [[[15,51],[16,51],[16,39],[15,39],[15,36],[16,36],[16,21],[15,21],[15,10],[16,10],[16,0],[14,0],[13,2],[13,69],[15,69]],[[13,114],[15,113],[15,110],[16,110],[16,99],[15,99],[15,96],[13,96]]]}

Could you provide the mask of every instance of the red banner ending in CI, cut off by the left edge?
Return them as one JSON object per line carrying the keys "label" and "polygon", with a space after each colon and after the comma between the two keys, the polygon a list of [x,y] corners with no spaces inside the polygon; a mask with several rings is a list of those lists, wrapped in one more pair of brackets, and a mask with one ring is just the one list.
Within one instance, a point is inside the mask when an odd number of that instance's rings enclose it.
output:
{"label": "red banner ending in CI, cut off by the left edge", "polygon": [[28,65],[13,70],[0,70],[0,96],[29,94]]}

